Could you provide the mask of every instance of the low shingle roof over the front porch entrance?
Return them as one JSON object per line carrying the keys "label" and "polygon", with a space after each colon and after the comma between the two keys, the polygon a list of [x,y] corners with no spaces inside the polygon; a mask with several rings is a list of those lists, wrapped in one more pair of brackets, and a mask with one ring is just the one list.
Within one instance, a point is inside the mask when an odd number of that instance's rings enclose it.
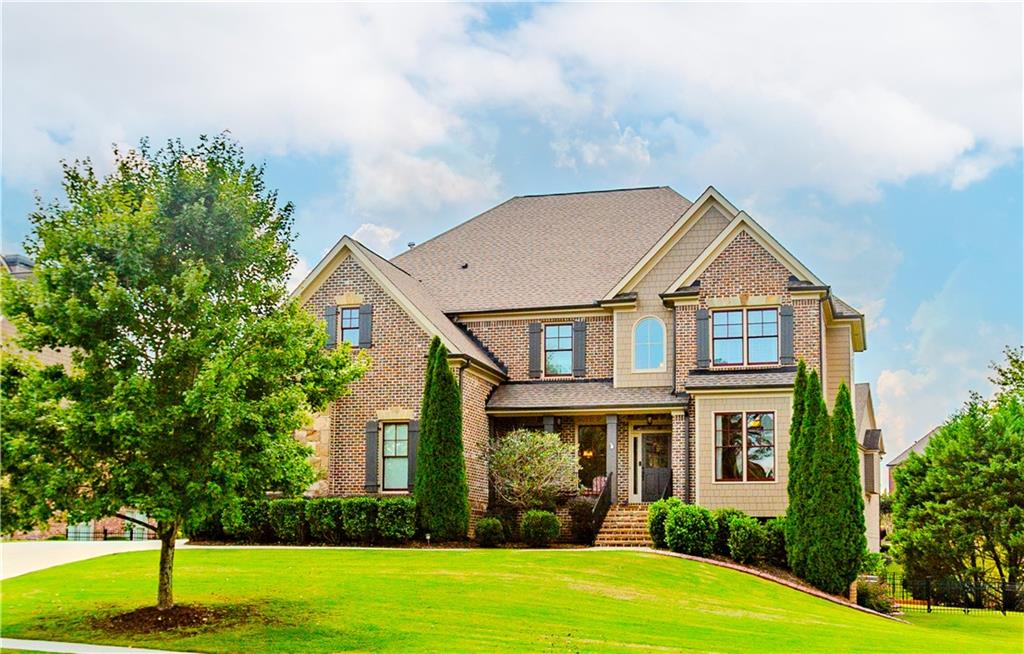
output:
{"label": "low shingle roof over the front porch entrance", "polygon": [[507,382],[487,400],[487,412],[581,410],[599,408],[674,408],[685,406],[685,393],[671,386],[614,388],[610,380],[572,382]]}

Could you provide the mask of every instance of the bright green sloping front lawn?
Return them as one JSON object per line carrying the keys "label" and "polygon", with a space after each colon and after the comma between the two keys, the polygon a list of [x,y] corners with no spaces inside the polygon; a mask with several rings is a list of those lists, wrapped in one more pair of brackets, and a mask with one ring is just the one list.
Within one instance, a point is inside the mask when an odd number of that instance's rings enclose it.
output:
{"label": "bright green sloping front lawn", "polygon": [[2,634],[199,652],[1014,652],[1024,616],[866,615],[739,572],[608,551],[181,550],[182,603],[258,619],[145,638],[97,613],[152,604],[157,553],[119,554],[3,583]]}

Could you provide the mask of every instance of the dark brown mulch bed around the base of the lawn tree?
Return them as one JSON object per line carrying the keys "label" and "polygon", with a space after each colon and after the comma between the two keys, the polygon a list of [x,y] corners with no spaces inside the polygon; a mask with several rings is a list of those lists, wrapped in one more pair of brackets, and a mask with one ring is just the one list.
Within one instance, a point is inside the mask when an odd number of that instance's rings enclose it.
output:
{"label": "dark brown mulch bed around the base of the lawn tree", "polygon": [[255,606],[199,606],[179,604],[169,609],[147,606],[141,609],[95,618],[95,628],[114,634],[153,634],[171,629],[208,628],[223,626],[256,617]]}

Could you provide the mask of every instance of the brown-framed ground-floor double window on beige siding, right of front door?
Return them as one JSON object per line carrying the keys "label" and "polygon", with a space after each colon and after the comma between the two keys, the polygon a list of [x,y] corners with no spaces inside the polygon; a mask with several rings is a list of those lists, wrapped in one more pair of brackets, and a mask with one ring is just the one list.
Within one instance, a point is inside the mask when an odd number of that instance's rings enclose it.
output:
{"label": "brown-framed ground-floor double window on beige siding, right of front door", "polygon": [[715,481],[775,481],[774,413],[715,413]]}

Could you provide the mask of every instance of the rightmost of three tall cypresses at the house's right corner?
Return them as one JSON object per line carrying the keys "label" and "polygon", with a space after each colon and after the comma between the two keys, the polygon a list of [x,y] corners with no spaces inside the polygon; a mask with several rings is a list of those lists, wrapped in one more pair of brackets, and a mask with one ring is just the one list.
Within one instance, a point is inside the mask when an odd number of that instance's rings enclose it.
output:
{"label": "rightmost of three tall cypresses at the house's right corner", "polygon": [[850,390],[841,384],[827,434],[813,457],[806,578],[826,593],[849,588],[867,547]]}

